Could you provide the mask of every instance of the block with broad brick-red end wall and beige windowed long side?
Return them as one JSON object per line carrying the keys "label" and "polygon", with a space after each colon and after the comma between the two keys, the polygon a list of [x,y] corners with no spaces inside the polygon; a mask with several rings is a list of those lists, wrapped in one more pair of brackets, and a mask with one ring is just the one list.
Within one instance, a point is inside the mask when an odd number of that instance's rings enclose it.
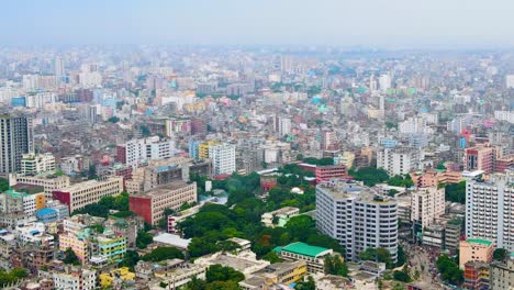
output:
{"label": "block with broad brick-red end wall and beige windowed long side", "polygon": [[147,223],[156,224],[166,217],[165,209],[178,210],[185,203],[197,202],[197,183],[177,181],[130,197],[130,210]]}

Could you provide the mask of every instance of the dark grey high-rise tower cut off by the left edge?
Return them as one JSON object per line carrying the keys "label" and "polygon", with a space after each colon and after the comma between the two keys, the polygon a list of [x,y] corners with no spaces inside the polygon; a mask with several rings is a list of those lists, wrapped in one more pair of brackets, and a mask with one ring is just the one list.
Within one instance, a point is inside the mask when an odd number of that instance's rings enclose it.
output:
{"label": "dark grey high-rise tower cut off by the left edge", "polygon": [[33,152],[32,122],[27,116],[0,115],[0,174],[21,170],[23,154]]}

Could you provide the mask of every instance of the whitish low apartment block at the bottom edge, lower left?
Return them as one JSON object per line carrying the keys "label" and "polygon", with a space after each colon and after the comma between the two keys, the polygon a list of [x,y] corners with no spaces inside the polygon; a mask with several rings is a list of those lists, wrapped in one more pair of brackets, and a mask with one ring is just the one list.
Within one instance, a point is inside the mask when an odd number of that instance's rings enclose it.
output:
{"label": "whitish low apartment block at the bottom edge, lower left", "polygon": [[52,278],[56,290],[93,290],[97,286],[97,272],[89,269],[54,272]]}

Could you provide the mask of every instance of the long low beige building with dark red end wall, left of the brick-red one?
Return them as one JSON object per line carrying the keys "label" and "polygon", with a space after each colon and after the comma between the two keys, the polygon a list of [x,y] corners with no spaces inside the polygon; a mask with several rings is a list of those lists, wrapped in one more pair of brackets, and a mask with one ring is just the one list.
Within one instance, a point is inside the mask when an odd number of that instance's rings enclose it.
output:
{"label": "long low beige building with dark red end wall, left of the brick-red one", "polygon": [[69,212],[99,202],[101,198],[118,196],[123,191],[123,177],[105,180],[88,180],[52,192],[53,198],[69,207]]}

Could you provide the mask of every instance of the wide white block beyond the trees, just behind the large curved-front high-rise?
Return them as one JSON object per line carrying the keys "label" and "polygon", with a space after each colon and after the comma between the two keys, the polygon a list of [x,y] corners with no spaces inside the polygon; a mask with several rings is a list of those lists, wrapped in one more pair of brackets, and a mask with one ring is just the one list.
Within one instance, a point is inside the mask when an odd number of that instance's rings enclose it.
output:
{"label": "wide white block beyond the trees, just behind the large curved-front high-rise", "polygon": [[417,169],[421,164],[421,152],[411,147],[380,148],[377,150],[377,168],[383,168],[388,175],[406,175]]}

